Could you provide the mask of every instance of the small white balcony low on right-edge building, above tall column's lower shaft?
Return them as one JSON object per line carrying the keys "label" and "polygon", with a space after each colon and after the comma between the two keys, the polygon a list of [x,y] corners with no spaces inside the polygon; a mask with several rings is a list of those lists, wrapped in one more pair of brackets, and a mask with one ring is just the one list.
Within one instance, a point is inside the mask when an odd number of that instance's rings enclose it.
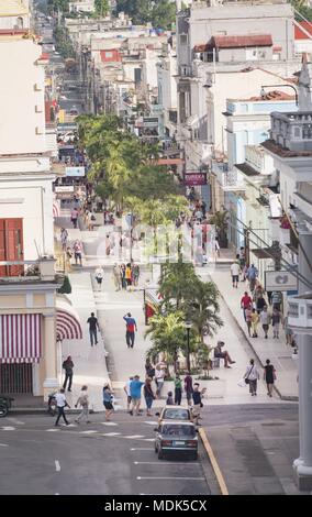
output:
{"label": "small white balcony low on right-edge building, above tall column's lower shaft", "polygon": [[312,331],[312,293],[293,296],[288,299],[288,324],[294,333],[311,334]]}

